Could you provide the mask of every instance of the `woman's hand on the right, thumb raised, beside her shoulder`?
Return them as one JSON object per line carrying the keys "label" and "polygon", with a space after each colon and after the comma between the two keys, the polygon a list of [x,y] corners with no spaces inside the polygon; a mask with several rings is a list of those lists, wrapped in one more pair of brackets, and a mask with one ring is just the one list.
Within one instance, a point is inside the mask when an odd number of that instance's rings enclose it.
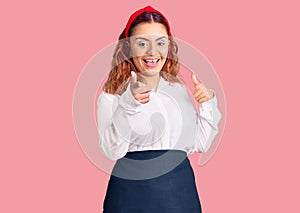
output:
{"label": "woman's hand on the right, thumb raised, beside her shoulder", "polygon": [[194,83],[194,88],[195,88],[195,92],[193,94],[194,98],[200,104],[205,101],[208,101],[209,99],[211,99],[214,96],[214,94],[211,90],[207,89],[204,84],[202,84],[198,81],[198,79],[194,73],[192,73],[192,81]]}

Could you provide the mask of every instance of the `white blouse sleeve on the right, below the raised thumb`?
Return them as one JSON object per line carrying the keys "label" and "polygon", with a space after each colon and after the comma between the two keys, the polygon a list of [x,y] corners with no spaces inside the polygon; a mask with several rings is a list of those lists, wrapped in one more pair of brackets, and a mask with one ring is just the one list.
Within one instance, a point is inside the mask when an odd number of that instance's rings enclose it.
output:
{"label": "white blouse sleeve on the right, below the raised thumb", "polygon": [[216,95],[200,104],[200,115],[197,118],[195,151],[207,152],[218,133],[221,113],[217,107]]}

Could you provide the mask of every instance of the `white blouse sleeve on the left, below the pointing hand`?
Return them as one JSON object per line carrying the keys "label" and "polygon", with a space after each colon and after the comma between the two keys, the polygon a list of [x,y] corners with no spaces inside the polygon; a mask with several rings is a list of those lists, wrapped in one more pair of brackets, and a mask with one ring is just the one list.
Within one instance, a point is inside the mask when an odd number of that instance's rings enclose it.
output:
{"label": "white blouse sleeve on the left, below the pointing hand", "polygon": [[139,113],[141,107],[129,86],[121,96],[100,94],[97,102],[99,147],[107,158],[117,160],[128,152],[132,128],[126,123],[127,117]]}

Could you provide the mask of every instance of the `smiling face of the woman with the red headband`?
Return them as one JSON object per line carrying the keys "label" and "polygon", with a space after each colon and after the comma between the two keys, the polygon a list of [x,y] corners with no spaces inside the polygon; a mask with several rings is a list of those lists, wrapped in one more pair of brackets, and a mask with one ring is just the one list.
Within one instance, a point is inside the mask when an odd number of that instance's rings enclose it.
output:
{"label": "smiling face of the woman with the red headband", "polygon": [[136,25],[130,37],[130,47],[138,71],[160,72],[166,62],[169,47],[165,26],[155,22]]}

